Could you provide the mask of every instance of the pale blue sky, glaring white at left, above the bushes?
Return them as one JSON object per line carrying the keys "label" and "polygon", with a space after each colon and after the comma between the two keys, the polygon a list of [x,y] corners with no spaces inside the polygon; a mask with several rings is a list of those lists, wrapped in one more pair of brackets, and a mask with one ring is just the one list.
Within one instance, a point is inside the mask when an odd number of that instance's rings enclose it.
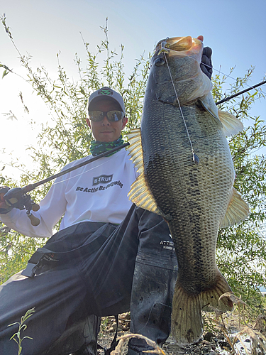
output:
{"label": "pale blue sky, glaring white at left, above the bushes", "polygon": [[[0,15],[4,13],[21,54],[32,56],[33,69],[43,65],[55,78],[60,53],[61,65],[77,80],[75,53],[86,60],[82,36],[89,50],[96,51],[96,45],[104,40],[100,26],[106,18],[111,48],[119,52],[121,44],[125,46],[128,76],[140,55],[145,52],[148,56],[159,40],[183,35],[204,35],[204,45],[213,50],[214,73],[228,75],[235,67],[228,83],[243,77],[251,65],[255,72],[250,85],[261,82],[266,72],[265,0],[0,0]],[[0,62],[26,77],[3,26]],[[29,168],[32,163],[26,148],[37,145],[40,124],[48,121],[49,112],[25,80],[12,74],[1,79],[3,71],[0,68],[0,170],[5,165],[6,173],[16,177],[18,170],[6,163],[12,158]],[[19,92],[30,114],[23,110]],[[265,119],[265,109],[265,100],[257,100],[253,114]]]}

